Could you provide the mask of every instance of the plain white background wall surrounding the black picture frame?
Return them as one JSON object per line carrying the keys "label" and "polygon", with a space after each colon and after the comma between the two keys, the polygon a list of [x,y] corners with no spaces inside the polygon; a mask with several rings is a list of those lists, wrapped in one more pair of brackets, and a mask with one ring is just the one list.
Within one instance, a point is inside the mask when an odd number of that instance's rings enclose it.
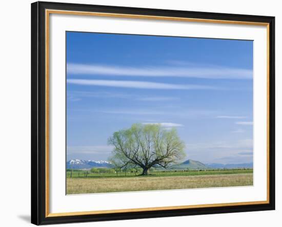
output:
{"label": "plain white background wall surrounding the black picture frame", "polygon": [[[74,0],[63,2],[276,16],[276,211],[65,224],[64,226],[279,226],[282,221],[280,1]],[[30,0],[2,1],[0,13],[0,224],[30,225]],[[280,28],[280,29],[279,29]],[[279,86],[281,84],[281,86]],[[278,129],[279,127],[279,129]],[[280,222],[280,223],[279,223]]]}

